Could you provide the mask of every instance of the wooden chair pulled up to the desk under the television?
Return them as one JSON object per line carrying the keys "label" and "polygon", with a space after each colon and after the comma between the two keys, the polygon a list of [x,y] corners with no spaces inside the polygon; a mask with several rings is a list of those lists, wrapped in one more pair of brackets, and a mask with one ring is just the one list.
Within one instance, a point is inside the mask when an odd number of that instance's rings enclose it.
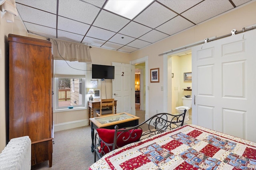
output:
{"label": "wooden chair pulled up to the desk under the television", "polygon": [[97,117],[114,114],[114,99],[101,99],[100,109],[96,110]]}

